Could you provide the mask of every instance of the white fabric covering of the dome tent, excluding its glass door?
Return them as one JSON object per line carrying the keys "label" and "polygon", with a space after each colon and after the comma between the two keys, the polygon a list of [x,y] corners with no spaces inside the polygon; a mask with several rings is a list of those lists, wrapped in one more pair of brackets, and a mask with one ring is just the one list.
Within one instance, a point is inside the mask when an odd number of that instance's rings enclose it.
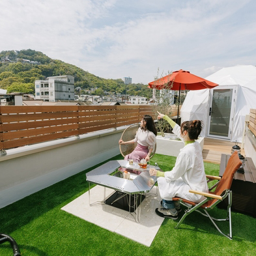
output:
{"label": "white fabric covering of the dome tent, excluding its glass door", "polygon": [[[233,118],[231,141],[242,142],[245,116],[249,115],[249,109],[256,108],[256,66],[238,65],[222,68],[206,79],[218,83],[218,87],[215,89],[221,89],[227,85],[234,86],[234,89],[237,88],[235,112],[233,115],[231,114]],[[182,122],[194,119],[203,121],[202,137],[206,137],[208,128],[210,90],[214,89],[188,92],[180,110]]]}

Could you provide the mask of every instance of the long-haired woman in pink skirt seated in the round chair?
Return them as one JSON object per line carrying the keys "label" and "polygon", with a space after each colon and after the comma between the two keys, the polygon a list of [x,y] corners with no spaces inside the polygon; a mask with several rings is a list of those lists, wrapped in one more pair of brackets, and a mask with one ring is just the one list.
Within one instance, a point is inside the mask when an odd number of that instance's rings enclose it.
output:
{"label": "long-haired woman in pink skirt seated in the round chair", "polygon": [[124,160],[132,159],[134,162],[139,162],[141,159],[145,158],[146,161],[149,161],[149,156],[156,144],[156,135],[157,132],[154,120],[150,115],[144,115],[141,119],[141,127],[137,130],[135,138],[131,141],[119,140],[119,144],[132,144],[137,142],[134,151],[126,155]]}

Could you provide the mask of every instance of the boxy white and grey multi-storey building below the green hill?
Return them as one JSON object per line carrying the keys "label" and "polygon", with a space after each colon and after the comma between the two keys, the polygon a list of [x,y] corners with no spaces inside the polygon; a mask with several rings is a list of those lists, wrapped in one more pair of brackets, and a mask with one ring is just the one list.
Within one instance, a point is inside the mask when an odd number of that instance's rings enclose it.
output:
{"label": "boxy white and grey multi-storey building below the green hill", "polygon": [[50,76],[35,81],[35,99],[44,102],[74,100],[74,76]]}

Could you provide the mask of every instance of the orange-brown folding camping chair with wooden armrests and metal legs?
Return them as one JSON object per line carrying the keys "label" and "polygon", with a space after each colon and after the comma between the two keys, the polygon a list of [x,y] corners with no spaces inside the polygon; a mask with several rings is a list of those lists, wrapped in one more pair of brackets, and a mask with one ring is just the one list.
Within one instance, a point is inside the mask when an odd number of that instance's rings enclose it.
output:
{"label": "orange-brown folding camping chair with wooden armrests and metal legs", "polygon": [[[206,216],[212,221],[216,229],[223,235],[226,236],[229,239],[232,239],[232,225],[231,225],[231,205],[232,205],[232,192],[230,190],[231,184],[233,181],[233,176],[236,172],[236,170],[242,165],[242,162],[239,160],[237,152],[234,152],[231,157],[229,158],[229,161],[227,162],[227,167],[223,173],[223,177],[215,177],[206,175],[206,178],[208,178],[208,182],[210,180],[219,180],[212,188],[209,189],[209,193],[199,192],[195,190],[190,190],[190,193],[195,193],[199,195],[204,195],[206,197],[205,200],[201,201],[200,203],[195,203],[192,201],[188,201],[186,199],[182,199],[180,197],[173,197],[173,201],[179,201],[181,205],[186,206],[188,209],[185,210],[184,215],[178,221],[178,224],[175,228],[178,229],[180,227],[181,223],[184,221],[184,219],[191,214],[192,212],[196,211],[201,213],[203,216]],[[213,188],[216,188],[214,192],[211,192]],[[211,210],[214,208],[218,203],[220,203],[223,199],[228,197],[229,199],[229,205],[227,206],[227,218],[225,219],[216,219],[212,218],[210,214],[208,214],[208,210]],[[201,211],[203,210],[203,212]],[[205,212],[205,213],[204,213]],[[216,225],[215,221],[229,221],[229,234],[225,235],[221,232],[219,227]]]}

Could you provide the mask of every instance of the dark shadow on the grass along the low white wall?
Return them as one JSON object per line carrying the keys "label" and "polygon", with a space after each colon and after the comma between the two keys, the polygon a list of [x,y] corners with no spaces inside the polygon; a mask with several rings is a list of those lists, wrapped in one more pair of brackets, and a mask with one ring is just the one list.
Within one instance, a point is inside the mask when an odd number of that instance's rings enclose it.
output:
{"label": "dark shadow on the grass along the low white wall", "polygon": [[[109,160],[122,159],[121,154]],[[109,160],[81,171],[80,173],[68,177],[48,188],[44,188],[32,195],[12,203],[0,209],[1,233],[10,234],[23,225],[35,220],[42,214],[49,212],[53,208],[61,208],[79,195],[87,192],[88,182],[85,173],[102,165]]]}

